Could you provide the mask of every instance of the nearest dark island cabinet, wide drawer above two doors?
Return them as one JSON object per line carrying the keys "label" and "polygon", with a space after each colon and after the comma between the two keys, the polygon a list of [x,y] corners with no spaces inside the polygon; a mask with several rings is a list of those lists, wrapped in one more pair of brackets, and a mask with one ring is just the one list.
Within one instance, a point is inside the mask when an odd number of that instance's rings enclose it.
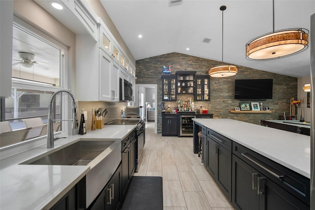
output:
{"label": "nearest dark island cabinet, wide drawer above two doors", "polygon": [[309,193],[306,178],[233,143],[232,204],[237,210],[309,210]]}

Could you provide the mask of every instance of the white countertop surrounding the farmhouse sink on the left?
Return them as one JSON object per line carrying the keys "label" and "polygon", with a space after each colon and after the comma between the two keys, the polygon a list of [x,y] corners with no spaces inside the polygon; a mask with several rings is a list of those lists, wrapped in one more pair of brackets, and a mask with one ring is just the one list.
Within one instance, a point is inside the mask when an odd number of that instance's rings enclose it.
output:
{"label": "white countertop surrounding the farmhouse sink on the left", "polygon": [[[54,149],[72,144],[80,138],[124,139],[136,125],[104,125],[103,129],[86,135],[68,136],[55,141]],[[0,209],[49,209],[89,171],[90,166],[19,165],[35,156],[49,152],[41,145],[0,159]]]}

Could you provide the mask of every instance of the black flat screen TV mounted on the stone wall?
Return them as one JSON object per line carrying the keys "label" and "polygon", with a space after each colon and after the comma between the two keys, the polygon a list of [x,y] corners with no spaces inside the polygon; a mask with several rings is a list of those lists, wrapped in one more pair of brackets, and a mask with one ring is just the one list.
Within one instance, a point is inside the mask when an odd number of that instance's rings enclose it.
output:
{"label": "black flat screen TV mounted on the stone wall", "polygon": [[272,79],[235,80],[235,99],[272,99]]}

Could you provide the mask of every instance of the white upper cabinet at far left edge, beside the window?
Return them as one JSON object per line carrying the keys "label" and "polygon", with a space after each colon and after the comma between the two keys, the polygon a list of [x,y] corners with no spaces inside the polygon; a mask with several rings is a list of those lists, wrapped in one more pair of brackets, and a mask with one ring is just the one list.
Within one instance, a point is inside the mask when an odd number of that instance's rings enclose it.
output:
{"label": "white upper cabinet at far left edge, beside the window", "polygon": [[0,97],[11,96],[13,1],[0,0]]}

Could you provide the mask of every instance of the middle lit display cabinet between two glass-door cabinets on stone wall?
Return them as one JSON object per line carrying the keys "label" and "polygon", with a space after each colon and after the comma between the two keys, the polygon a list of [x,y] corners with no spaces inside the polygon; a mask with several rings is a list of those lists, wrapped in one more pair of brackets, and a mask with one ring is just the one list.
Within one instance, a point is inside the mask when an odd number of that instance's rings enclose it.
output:
{"label": "middle lit display cabinet between two glass-door cabinets on stone wall", "polygon": [[177,71],[177,94],[195,94],[196,71]]}

